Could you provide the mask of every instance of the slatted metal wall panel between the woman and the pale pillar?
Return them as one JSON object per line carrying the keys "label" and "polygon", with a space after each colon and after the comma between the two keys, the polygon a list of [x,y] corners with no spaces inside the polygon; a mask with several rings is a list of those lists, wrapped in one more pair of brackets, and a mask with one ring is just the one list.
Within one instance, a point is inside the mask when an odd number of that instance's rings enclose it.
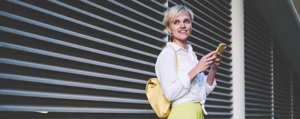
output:
{"label": "slatted metal wall panel between the woman and the pale pillar", "polygon": [[[205,118],[230,118],[231,104],[231,0],[168,0],[168,6],[185,4],[192,9],[192,33],[187,40],[193,46],[198,59],[215,50],[219,43],[226,43],[222,63],[215,76],[217,86],[210,92],[205,102]],[[204,72],[208,73],[208,70]]]}

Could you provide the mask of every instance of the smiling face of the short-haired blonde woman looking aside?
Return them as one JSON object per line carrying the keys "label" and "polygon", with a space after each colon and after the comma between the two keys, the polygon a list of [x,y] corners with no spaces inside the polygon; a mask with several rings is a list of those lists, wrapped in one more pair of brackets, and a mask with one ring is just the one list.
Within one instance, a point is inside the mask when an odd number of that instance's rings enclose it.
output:
{"label": "smiling face of the short-haired blonde woman looking aside", "polygon": [[169,33],[172,33],[173,40],[185,40],[191,33],[191,20],[188,13],[180,15],[173,21],[170,21],[169,26],[166,26]]}

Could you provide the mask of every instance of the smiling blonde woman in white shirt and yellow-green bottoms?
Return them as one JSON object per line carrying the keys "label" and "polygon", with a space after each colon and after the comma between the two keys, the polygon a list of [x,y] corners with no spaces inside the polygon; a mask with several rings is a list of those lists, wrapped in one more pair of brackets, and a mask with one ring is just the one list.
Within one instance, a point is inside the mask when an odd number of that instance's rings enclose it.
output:
{"label": "smiling blonde woman in white shirt and yellow-green bottoms", "polygon": [[[158,55],[155,72],[164,96],[172,103],[169,119],[204,118],[203,112],[207,115],[204,109],[206,96],[216,86],[214,76],[222,54],[212,56],[215,51],[211,51],[197,60],[191,45],[186,43],[192,19],[192,11],[182,5],[169,8],[163,18],[172,40]],[[177,53],[178,69],[172,48]],[[203,72],[208,67],[209,73],[205,75]]]}

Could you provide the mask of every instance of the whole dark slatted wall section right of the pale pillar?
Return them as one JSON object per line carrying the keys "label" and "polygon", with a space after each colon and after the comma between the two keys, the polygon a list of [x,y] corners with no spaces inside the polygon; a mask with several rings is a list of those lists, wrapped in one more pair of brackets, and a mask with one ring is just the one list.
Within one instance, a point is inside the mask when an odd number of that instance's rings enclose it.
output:
{"label": "whole dark slatted wall section right of the pale pillar", "polygon": [[245,117],[297,118],[299,78],[251,0],[244,0],[244,37]]}

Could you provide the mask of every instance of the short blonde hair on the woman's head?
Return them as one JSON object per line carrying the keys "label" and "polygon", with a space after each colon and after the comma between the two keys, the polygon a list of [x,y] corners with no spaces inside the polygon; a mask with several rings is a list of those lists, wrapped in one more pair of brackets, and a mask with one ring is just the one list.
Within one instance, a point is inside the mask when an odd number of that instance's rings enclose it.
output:
{"label": "short blonde hair on the woman's head", "polygon": [[170,21],[173,21],[178,16],[185,15],[186,13],[188,13],[190,20],[192,21],[193,12],[191,9],[183,5],[174,5],[167,10],[162,22],[164,25],[169,25]]}

